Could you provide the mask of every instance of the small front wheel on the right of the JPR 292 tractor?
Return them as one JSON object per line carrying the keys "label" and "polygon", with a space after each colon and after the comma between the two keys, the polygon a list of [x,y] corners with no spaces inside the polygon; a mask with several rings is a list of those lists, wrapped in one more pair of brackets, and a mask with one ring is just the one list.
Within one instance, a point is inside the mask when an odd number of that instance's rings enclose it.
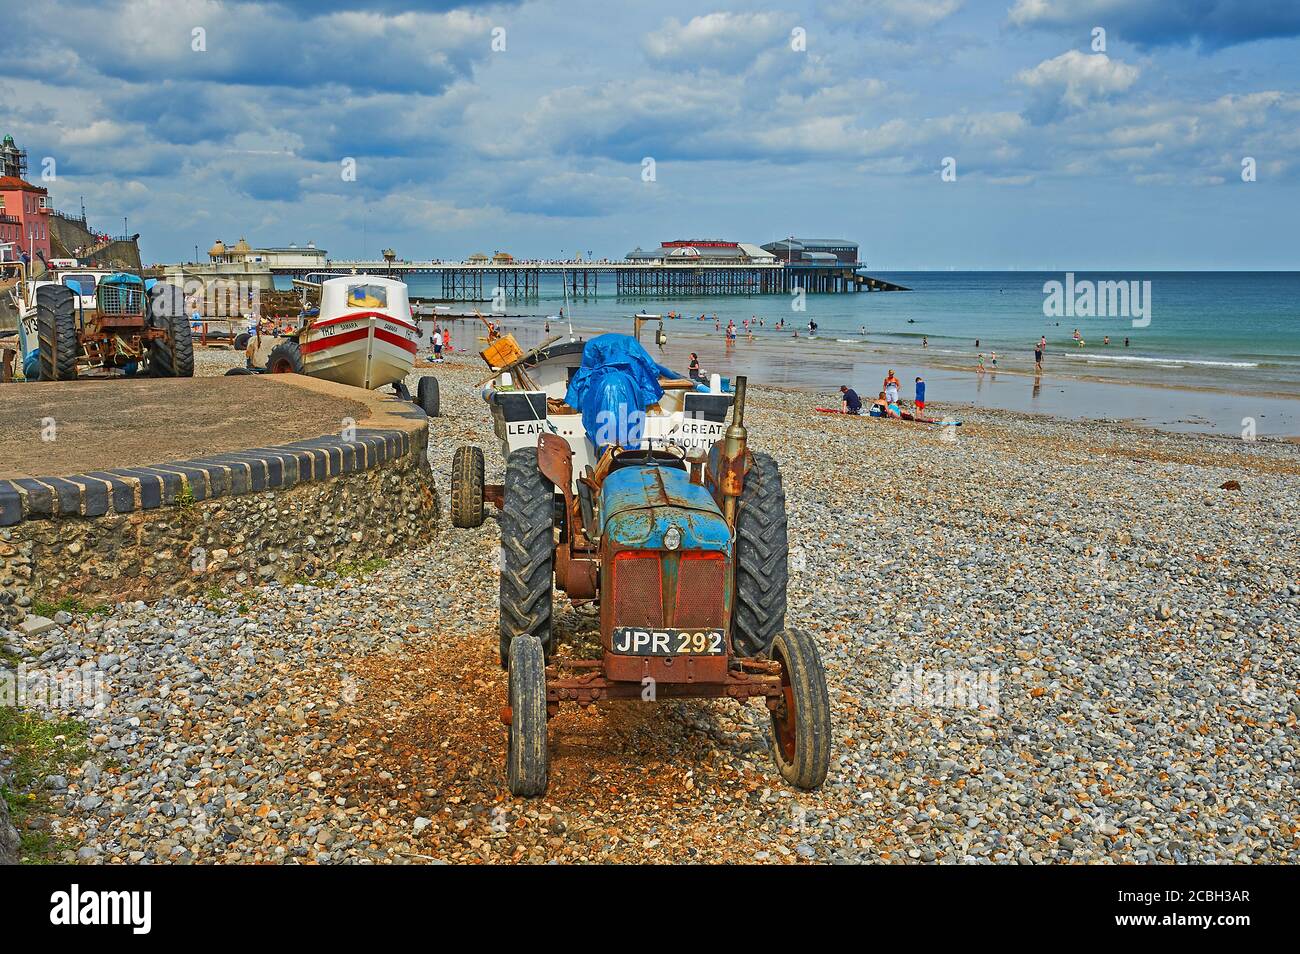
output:
{"label": "small front wheel on the right of the JPR 292 tractor", "polygon": [[831,698],[826,669],[812,636],[786,629],[772,642],[772,658],[781,664],[785,698],[772,717],[772,755],[785,781],[815,789],[831,767]]}

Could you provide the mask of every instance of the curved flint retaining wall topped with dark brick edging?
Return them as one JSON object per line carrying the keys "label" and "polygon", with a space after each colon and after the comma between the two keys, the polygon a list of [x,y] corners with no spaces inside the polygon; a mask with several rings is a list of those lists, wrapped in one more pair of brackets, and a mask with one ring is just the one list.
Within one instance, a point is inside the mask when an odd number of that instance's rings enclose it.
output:
{"label": "curved flint retaining wall topped with dark brick edging", "polygon": [[94,482],[16,481],[21,519],[0,526],[0,626],[34,599],[99,604],[290,580],[425,542],[438,500],[420,419]]}

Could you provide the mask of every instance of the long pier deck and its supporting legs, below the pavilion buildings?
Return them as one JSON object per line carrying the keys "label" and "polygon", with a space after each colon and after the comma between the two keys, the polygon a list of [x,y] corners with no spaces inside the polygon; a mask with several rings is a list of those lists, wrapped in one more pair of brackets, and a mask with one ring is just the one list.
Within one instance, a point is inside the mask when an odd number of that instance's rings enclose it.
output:
{"label": "long pier deck and its supporting legs, below the pavilion buildings", "polygon": [[[304,278],[308,274],[374,274],[406,279],[441,276],[442,298],[481,302],[500,289],[508,299],[537,298],[542,276],[562,279],[575,298],[606,291],[637,296],[788,295],[858,291],[910,291],[901,285],[862,273],[857,264],[797,263],[627,263],[627,261],[328,261],[324,266],[269,265],[272,276]],[[214,276],[216,277],[216,276]]]}

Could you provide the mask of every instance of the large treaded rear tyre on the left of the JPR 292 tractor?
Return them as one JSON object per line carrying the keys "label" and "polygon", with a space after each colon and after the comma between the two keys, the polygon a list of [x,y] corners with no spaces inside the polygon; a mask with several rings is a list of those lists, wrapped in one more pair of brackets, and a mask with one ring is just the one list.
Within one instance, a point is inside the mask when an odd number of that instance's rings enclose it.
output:
{"label": "large treaded rear tyre on the left of the JPR 292 tractor", "polygon": [[555,587],[554,487],[537,467],[537,448],[515,451],[506,461],[500,511],[500,664],[510,645],[536,637],[551,654],[551,595]]}

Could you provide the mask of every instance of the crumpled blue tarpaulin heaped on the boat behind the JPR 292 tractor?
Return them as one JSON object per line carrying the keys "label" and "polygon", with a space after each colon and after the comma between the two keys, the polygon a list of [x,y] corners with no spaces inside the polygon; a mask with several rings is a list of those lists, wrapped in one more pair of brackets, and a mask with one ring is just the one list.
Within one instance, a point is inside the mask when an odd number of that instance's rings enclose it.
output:
{"label": "crumpled blue tarpaulin heaped on the boat behind the JPR 292 tractor", "polygon": [[659,378],[681,377],[650,357],[636,338],[602,334],[582,348],[582,365],[569,381],[564,403],[582,412],[582,426],[597,451],[641,443],[644,412],[663,396]]}

